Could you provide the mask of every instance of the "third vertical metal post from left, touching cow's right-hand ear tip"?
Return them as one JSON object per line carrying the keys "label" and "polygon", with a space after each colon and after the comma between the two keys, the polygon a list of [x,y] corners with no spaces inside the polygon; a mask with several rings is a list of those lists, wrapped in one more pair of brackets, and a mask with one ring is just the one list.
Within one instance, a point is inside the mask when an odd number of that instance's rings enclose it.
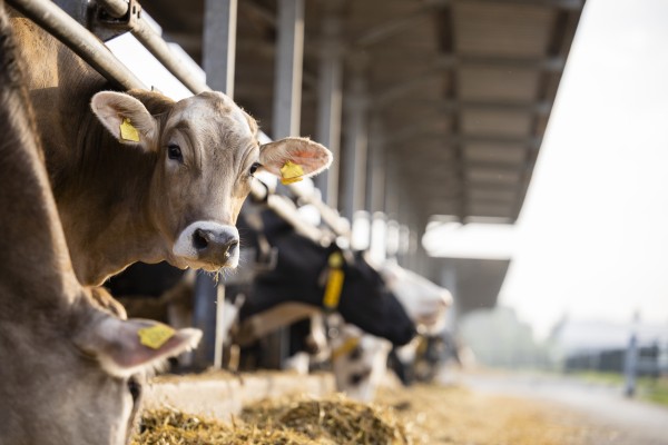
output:
{"label": "third vertical metal post from left, touching cow's right-hand ear tip", "polygon": [[[332,8],[335,9],[335,8]],[[341,151],[343,47],[341,17],[337,10],[327,10],[322,23],[322,46],[317,86],[316,139],[327,147],[334,161],[327,171],[315,178],[323,201],[338,207],[338,168]]]}

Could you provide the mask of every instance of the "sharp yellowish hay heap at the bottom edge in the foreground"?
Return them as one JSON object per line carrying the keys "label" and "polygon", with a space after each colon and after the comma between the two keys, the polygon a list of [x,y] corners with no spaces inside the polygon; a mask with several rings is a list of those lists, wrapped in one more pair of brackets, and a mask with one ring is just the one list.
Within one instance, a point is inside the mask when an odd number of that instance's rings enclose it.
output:
{"label": "sharp yellowish hay heap at the bottom edge in the foreground", "polygon": [[132,445],[412,445],[389,408],[343,397],[262,402],[232,425],[170,408],[147,411]]}

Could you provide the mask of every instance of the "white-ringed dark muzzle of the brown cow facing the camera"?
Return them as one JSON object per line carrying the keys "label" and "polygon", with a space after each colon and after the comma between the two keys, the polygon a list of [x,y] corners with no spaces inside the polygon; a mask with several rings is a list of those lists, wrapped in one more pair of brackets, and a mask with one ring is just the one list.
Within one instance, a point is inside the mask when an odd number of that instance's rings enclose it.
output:
{"label": "white-ringed dark muzzle of the brown cow facing the camera", "polygon": [[234,226],[193,222],[178,236],[174,255],[188,266],[209,271],[222,267],[235,268],[239,263],[239,233]]}

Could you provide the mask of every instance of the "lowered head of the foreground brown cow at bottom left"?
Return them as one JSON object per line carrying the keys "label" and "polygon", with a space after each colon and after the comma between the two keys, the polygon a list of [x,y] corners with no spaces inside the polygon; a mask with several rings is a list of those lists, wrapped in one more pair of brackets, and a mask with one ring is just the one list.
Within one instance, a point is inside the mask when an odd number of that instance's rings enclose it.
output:
{"label": "lowered head of the foreground brown cow at bottom left", "polygon": [[[50,298],[48,310],[0,323],[0,353],[11,357],[0,366],[0,443],[127,444],[147,373],[194,347],[200,332],[121,320],[86,296],[71,306],[61,295],[40,298]],[[151,329],[169,337],[147,346]]]}

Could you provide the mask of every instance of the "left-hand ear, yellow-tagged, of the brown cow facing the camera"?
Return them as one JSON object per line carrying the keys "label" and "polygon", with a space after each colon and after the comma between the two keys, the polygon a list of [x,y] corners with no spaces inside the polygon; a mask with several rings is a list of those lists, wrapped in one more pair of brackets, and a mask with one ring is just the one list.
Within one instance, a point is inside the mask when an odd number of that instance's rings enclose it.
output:
{"label": "left-hand ear, yellow-tagged, of the brown cow facing the camera", "polygon": [[90,108],[119,142],[151,149],[158,122],[139,100],[122,92],[101,91],[92,97]]}

